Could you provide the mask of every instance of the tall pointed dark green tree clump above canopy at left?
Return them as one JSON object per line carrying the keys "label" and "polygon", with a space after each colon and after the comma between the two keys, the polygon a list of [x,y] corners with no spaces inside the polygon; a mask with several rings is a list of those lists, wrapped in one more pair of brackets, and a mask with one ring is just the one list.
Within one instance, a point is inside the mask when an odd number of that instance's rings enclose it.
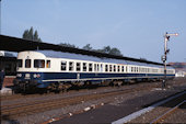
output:
{"label": "tall pointed dark green tree clump above canopy at left", "polygon": [[42,42],[40,37],[38,37],[37,30],[33,30],[33,26],[30,30],[25,30],[22,36],[24,40],[31,40],[35,42]]}

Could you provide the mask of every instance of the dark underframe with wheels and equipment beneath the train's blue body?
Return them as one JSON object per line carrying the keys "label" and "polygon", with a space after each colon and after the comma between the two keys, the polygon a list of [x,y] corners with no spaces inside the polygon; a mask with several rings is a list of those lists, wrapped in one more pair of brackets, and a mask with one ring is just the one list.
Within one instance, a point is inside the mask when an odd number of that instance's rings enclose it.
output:
{"label": "dark underframe with wheels and equipment beneath the train's blue body", "polygon": [[[173,79],[174,77],[167,77]],[[107,79],[107,80],[77,80],[77,81],[58,81],[58,82],[37,82],[36,80],[19,81],[14,80],[14,92],[60,92],[69,89],[91,88],[94,86],[113,86],[120,87],[126,83],[161,81],[163,77],[153,78],[125,78],[125,79]],[[44,84],[45,83],[45,84]]]}

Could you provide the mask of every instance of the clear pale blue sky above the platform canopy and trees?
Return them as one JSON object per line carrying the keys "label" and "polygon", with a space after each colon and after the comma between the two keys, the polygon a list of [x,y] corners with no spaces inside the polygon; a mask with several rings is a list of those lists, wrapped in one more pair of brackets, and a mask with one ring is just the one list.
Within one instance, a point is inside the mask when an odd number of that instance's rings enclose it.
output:
{"label": "clear pale blue sky above the platform canopy and trees", "polygon": [[127,57],[186,61],[186,0],[2,0],[1,34],[22,37],[31,26],[43,42],[95,49],[109,45]]}

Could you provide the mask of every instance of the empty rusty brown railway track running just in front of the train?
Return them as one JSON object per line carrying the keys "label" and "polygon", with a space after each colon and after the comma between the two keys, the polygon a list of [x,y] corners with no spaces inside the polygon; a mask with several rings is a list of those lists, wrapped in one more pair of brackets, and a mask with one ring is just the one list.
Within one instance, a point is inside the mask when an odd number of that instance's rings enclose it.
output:
{"label": "empty rusty brown railway track running just in front of the train", "polygon": [[150,90],[152,87],[142,87],[142,88],[129,88],[125,90],[115,90],[115,91],[107,91],[102,93],[92,93],[92,94],[84,94],[84,95],[77,95],[70,98],[58,98],[58,99],[50,99],[50,100],[37,100],[37,101],[30,101],[24,103],[16,103],[11,105],[2,105],[1,106],[1,117],[3,120],[4,116],[9,116],[11,119],[23,116],[23,115],[31,115],[34,113],[45,112],[54,109],[60,109],[68,105],[79,104],[82,101],[90,101],[102,99],[106,97],[114,97],[124,93],[130,93],[135,91],[142,91],[142,90]]}

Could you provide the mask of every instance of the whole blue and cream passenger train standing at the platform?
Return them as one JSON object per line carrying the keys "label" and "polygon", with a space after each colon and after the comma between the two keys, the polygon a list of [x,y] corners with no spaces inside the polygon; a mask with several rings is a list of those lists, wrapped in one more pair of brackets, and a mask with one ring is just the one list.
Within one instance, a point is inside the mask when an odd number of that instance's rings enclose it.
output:
{"label": "whole blue and cream passenger train standing at the platform", "polygon": [[[161,65],[98,58],[54,50],[27,50],[18,54],[14,86],[19,89],[67,89],[73,84],[124,83],[131,80],[160,80]],[[167,78],[175,70],[167,68]]]}

